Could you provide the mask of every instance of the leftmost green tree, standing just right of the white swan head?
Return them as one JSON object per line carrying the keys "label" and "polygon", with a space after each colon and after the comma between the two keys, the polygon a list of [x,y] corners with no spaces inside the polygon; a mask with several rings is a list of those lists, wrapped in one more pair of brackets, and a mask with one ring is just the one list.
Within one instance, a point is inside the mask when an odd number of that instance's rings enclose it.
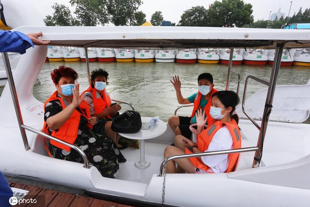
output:
{"label": "leftmost green tree, standing just right of the white swan head", "polygon": [[43,20],[47,26],[79,26],[81,22],[73,18],[69,7],[55,3],[52,8],[54,13],[47,15]]}

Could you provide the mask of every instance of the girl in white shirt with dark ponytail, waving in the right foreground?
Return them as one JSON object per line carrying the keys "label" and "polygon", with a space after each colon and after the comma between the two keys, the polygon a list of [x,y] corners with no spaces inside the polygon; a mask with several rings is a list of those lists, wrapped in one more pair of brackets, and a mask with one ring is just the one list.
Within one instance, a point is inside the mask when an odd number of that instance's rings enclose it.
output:
{"label": "girl in white shirt with dark ponytail, waving in the right foreground", "polygon": [[[235,111],[235,108],[237,104],[239,103],[239,98],[237,94],[233,91],[218,91],[215,94],[213,94],[211,99],[211,108],[210,108],[210,115],[213,117],[213,122],[215,123],[217,121],[220,121],[221,127],[213,134],[211,141],[209,143],[209,146],[207,147],[207,150],[205,152],[210,151],[219,151],[219,150],[230,150],[233,149],[233,146],[235,148],[240,148],[241,145],[241,136],[239,132],[239,128],[237,126],[238,122],[238,116],[237,114],[233,114]],[[198,113],[196,113],[196,119],[197,119],[197,131],[201,133],[201,136],[206,134],[206,132],[210,132],[211,125],[209,125],[208,128],[206,128],[205,132],[203,127],[206,124],[206,118],[205,113],[200,110]],[[226,124],[227,126],[226,126]],[[222,127],[223,125],[223,127]],[[228,126],[230,126],[230,130],[228,130]],[[233,139],[233,133],[231,130],[231,126],[235,126],[235,131],[237,131],[237,140],[238,144],[236,145],[236,136],[235,139]],[[214,127],[213,127],[214,128]],[[210,134],[209,134],[210,135]],[[199,136],[199,135],[198,135]],[[240,137],[238,137],[240,136]],[[185,142],[185,141],[186,142]],[[237,146],[237,147],[236,147]],[[187,150],[186,150],[187,148]],[[202,149],[200,147],[200,149]],[[173,156],[176,154],[185,154],[188,153],[188,150],[190,150],[193,153],[203,152],[198,149],[197,144],[186,137],[182,135],[178,135],[175,137],[175,146],[168,146],[165,149],[164,157],[166,156]],[[193,160],[193,158],[191,158]],[[195,158],[196,159],[196,158]],[[197,157],[197,162],[202,163],[206,166],[206,168],[203,167],[203,169],[199,168],[200,165],[194,166],[188,158],[184,159],[175,159],[166,164],[166,173],[184,173],[186,171],[187,173],[224,173],[228,170],[228,164],[229,164],[230,156],[228,154],[219,154],[219,155],[211,155],[211,156],[203,156],[203,157]],[[237,158],[234,158],[235,164]],[[177,168],[175,163],[177,163]],[[231,164],[231,163],[230,163]],[[230,166],[231,168],[231,166]]]}

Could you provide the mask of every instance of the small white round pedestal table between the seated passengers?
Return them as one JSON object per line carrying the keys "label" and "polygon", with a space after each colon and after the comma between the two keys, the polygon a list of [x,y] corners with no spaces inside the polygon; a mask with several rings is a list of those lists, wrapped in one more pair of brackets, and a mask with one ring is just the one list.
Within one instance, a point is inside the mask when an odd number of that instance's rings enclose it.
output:
{"label": "small white round pedestal table between the seated passengers", "polygon": [[[141,117],[142,122],[149,122],[153,117]],[[148,130],[140,130],[136,133],[118,133],[119,135],[128,139],[140,140],[140,160],[135,162],[137,168],[147,168],[151,163],[145,160],[144,140],[152,139],[161,136],[167,130],[167,125],[162,120],[158,120],[154,126]]]}

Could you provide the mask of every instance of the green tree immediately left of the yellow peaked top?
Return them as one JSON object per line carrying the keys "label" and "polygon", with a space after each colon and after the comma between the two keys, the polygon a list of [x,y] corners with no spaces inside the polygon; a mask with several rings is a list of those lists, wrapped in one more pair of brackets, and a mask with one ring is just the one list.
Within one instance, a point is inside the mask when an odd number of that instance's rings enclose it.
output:
{"label": "green tree immediately left of the yellow peaked top", "polygon": [[107,9],[112,16],[111,22],[115,26],[139,24],[138,22],[142,22],[145,18],[145,16],[142,18],[144,13],[138,11],[142,3],[141,0],[108,0]]}

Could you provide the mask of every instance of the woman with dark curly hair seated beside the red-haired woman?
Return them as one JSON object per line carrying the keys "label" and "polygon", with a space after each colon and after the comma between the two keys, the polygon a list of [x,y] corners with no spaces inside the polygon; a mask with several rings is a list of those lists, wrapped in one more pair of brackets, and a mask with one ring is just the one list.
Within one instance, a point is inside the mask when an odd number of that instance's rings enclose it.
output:
{"label": "woman with dark curly hair seated beside the red-haired woman", "polygon": [[96,117],[98,122],[93,130],[101,135],[106,135],[115,141],[119,150],[125,149],[126,145],[119,145],[120,135],[111,129],[112,118],[119,115],[122,107],[119,104],[111,105],[111,99],[105,90],[108,85],[108,72],[102,69],[91,71],[91,86],[82,94],[85,94],[84,100],[88,103],[90,114]]}

